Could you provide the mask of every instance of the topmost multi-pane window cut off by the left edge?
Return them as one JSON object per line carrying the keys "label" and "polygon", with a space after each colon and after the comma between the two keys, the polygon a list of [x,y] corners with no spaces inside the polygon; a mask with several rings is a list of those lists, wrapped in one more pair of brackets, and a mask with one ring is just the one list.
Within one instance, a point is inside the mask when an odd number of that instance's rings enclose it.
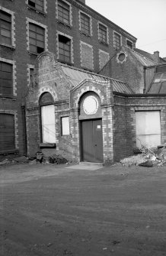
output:
{"label": "topmost multi-pane window cut off by the left edge", "polygon": [[11,15],[0,11],[0,44],[11,44]]}

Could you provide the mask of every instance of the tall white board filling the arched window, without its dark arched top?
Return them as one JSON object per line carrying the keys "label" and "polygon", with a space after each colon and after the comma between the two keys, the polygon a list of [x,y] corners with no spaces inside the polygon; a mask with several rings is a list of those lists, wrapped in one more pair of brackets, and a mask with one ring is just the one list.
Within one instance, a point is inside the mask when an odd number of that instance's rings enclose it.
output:
{"label": "tall white board filling the arched window, without its dark arched top", "polygon": [[56,142],[56,125],[54,105],[44,105],[41,107],[42,136],[43,143]]}

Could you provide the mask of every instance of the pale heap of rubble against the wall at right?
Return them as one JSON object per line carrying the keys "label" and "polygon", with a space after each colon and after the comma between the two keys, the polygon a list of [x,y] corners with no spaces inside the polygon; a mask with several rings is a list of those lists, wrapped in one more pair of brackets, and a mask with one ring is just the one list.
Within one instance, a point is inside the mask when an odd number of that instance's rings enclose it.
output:
{"label": "pale heap of rubble against the wall at right", "polygon": [[166,166],[166,144],[157,147],[145,147],[134,149],[135,155],[120,160],[124,166],[132,165],[142,167],[163,167]]}

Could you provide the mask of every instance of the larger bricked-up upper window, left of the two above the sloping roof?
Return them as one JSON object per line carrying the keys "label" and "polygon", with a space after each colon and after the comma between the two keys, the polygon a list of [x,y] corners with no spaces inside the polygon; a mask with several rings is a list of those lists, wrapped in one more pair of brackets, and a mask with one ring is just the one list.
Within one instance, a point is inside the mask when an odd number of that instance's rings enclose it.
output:
{"label": "larger bricked-up upper window, left of the two above the sloping roof", "polygon": [[87,70],[94,70],[93,48],[81,42],[81,66]]}

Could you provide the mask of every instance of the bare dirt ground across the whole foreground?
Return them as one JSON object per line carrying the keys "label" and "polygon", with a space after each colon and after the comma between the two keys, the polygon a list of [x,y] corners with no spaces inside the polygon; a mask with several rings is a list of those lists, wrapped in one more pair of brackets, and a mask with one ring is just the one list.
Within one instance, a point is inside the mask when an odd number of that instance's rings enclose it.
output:
{"label": "bare dirt ground across the whole foreground", "polygon": [[166,255],[166,167],[0,167],[1,256]]}

